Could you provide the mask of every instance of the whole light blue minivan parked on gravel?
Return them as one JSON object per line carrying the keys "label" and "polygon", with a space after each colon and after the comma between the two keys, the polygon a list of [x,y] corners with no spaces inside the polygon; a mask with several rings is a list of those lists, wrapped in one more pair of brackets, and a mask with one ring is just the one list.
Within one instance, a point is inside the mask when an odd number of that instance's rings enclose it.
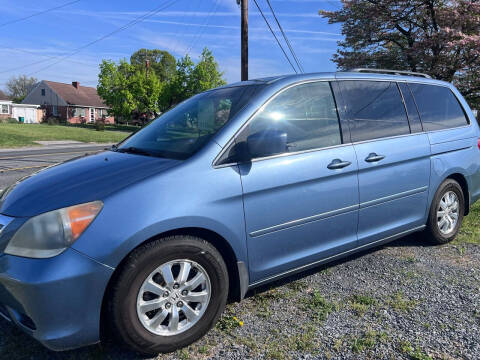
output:
{"label": "whole light blue minivan parked on gravel", "polygon": [[480,196],[480,131],[449,83],[350,72],[196,95],[109,151],[0,198],[0,314],[53,350],[110,329],[145,354],[255,286],[416,231]]}

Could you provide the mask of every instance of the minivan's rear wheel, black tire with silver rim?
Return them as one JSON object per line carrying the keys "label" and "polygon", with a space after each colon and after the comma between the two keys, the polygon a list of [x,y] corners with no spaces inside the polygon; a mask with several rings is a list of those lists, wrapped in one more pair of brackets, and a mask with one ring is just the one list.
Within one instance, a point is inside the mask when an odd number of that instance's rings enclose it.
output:
{"label": "minivan's rear wheel, black tire with silver rim", "polygon": [[[440,215],[444,212],[439,213],[438,211],[443,211],[442,208],[445,207],[445,205],[448,205],[448,196],[452,193],[454,194],[454,196],[452,195],[452,198],[456,198],[458,202],[457,211],[454,211],[455,206],[450,204],[450,206],[447,207],[449,209],[447,210],[447,213],[450,215],[447,220],[442,220]],[[445,202],[445,200],[447,200],[447,202]],[[433,244],[442,245],[455,239],[462,225],[464,214],[465,197],[461,186],[453,179],[446,179],[439,186],[435,193],[435,197],[433,198],[432,206],[430,207],[426,229],[428,240]],[[453,226],[451,221],[455,220],[455,215],[457,216],[457,219]],[[444,220],[445,222],[443,222]]]}

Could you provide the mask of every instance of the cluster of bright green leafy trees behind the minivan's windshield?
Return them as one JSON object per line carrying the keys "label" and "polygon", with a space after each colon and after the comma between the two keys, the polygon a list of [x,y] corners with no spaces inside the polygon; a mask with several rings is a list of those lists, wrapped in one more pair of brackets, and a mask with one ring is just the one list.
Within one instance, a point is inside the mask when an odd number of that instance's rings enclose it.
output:
{"label": "cluster of bright green leafy trees behind the minivan's windshield", "polygon": [[[152,56],[152,59],[156,56],[159,66],[155,71],[153,66],[152,71],[147,71],[142,54]],[[128,118],[133,112],[157,115],[199,92],[225,84],[223,73],[208,49],[203,50],[197,64],[185,55],[175,64],[171,74],[170,70],[165,70],[169,66],[160,66],[162,59],[169,63],[171,55],[166,54],[161,50],[142,49],[131,56],[130,63],[122,60],[117,65],[104,60],[100,64],[97,91],[115,116]]]}

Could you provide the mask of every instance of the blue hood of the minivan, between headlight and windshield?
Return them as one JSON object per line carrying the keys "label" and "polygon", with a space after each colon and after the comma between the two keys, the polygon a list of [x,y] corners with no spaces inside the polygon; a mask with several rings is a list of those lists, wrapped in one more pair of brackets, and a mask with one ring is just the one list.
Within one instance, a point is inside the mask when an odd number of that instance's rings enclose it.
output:
{"label": "blue hood of the minivan, between headlight and windshield", "polygon": [[70,160],[41,170],[14,185],[0,203],[0,214],[30,217],[104,200],[110,194],[179,163],[178,160],[117,152]]}

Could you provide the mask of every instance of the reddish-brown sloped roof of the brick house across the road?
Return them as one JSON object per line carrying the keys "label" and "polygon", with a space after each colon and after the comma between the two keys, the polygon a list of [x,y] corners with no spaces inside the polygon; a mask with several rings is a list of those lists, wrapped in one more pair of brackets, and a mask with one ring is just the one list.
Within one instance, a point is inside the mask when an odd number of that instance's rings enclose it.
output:
{"label": "reddish-brown sloped roof of the brick house across the road", "polygon": [[95,88],[81,85],[75,87],[73,84],[55,81],[44,80],[44,82],[70,105],[107,107]]}

